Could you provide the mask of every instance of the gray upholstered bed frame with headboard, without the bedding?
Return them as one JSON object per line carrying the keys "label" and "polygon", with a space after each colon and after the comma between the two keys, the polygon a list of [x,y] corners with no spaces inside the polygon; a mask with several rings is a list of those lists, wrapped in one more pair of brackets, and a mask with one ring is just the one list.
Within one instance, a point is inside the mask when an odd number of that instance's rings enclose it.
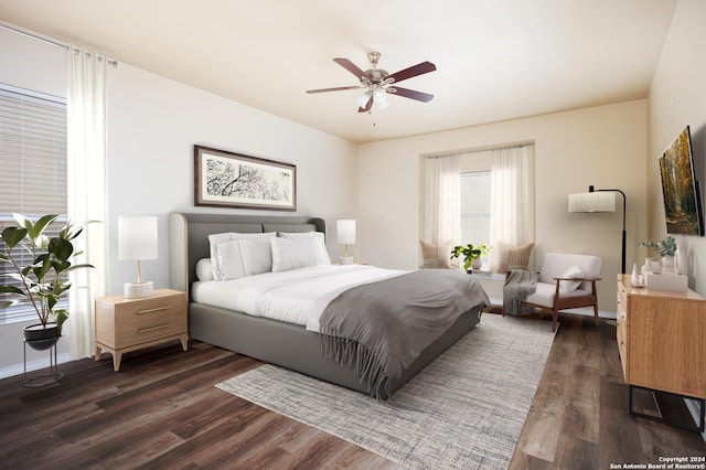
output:
{"label": "gray upholstered bed frame with headboard, without the bedding", "polygon": [[[226,305],[207,305],[194,298],[194,292],[197,293],[195,288],[200,287],[196,266],[200,260],[211,256],[210,235],[318,232],[325,241],[327,227],[322,218],[171,213],[169,224],[170,287],[190,295],[189,335],[192,339],[379,398],[388,398],[475,327],[480,321],[483,307],[488,303],[488,298],[484,296],[477,305],[454,319],[438,339],[426,346],[414,362],[404,367],[399,376],[391,378],[384,389],[371,389],[370,384],[362,381],[350,365],[323,355],[321,334],[308,330],[306,325],[267,317],[255,317],[233,310]],[[325,269],[333,268],[329,266]]]}

